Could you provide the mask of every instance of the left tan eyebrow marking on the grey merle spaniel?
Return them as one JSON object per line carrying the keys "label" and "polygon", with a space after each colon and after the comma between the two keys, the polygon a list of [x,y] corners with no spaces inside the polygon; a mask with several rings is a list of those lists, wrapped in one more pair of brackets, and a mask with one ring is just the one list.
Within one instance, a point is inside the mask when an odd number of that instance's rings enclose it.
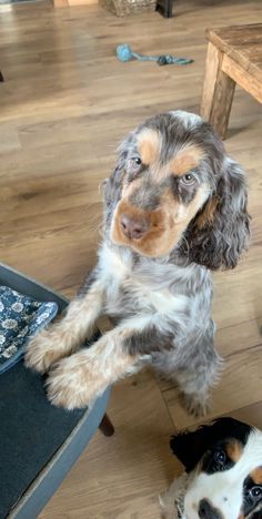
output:
{"label": "left tan eyebrow marking on the grey merle spaniel", "polygon": [[160,134],[151,128],[145,128],[138,135],[138,150],[142,163],[150,165],[158,159],[161,147]]}

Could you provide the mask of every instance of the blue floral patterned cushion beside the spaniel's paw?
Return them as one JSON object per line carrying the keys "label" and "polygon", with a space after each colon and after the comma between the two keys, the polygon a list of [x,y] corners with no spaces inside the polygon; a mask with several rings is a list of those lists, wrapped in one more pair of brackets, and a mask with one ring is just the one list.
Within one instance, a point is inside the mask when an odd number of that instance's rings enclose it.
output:
{"label": "blue floral patterned cushion beside the spaniel's paw", "polygon": [[57,303],[40,303],[0,286],[0,374],[20,359],[29,337],[57,313]]}

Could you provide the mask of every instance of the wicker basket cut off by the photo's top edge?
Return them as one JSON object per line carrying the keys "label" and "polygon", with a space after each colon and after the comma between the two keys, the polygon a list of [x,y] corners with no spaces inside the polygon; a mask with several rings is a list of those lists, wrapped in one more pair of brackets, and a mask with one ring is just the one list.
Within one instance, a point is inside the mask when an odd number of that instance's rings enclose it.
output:
{"label": "wicker basket cut off by the photo's top edge", "polygon": [[157,0],[99,0],[99,3],[117,17],[155,11],[157,7]]}

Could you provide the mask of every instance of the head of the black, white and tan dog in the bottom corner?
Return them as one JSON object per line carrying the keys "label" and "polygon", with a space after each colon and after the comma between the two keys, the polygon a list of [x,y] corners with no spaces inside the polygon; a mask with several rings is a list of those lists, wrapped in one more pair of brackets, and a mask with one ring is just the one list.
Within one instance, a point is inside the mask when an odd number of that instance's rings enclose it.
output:
{"label": "head of the black, white and tan dog in the bottom corner", "polygon": [[[220,418],[171,439],[189,474],[183,519],[259,519],[262,517],[262,432],[232,418]],[[172,488],[172,487],[171,487]],[[174,487],[173,487],[174,488]],[[177,487],[178,488],[178,487]],[[169,493],[170,503],[178,496]],[[169,516],[172,517],[172,516]]]}

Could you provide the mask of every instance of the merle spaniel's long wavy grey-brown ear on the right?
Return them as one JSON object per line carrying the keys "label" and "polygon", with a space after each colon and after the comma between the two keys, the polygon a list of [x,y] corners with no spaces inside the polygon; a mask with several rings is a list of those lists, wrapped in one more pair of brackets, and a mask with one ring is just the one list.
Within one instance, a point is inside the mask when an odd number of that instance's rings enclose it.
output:
{"label": "merle spaniel's long wavy grey-brown ear on the right", "polygon": [[191,261],[211,269],[234,268],[250,236],[246,202],[244,172],[228,157],[213,195],[188,230]]}

